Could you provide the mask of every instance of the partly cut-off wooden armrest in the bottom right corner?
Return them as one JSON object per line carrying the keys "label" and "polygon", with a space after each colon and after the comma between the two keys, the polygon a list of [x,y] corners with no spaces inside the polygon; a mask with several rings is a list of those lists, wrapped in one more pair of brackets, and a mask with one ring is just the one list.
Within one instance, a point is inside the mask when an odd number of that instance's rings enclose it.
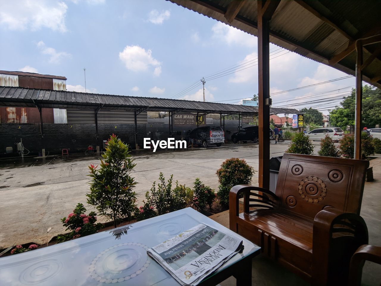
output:
{"label": "partly cut-off wooden armrest in the bottom right corner", "polygon": [[365,261],[381,264],[381,247],[364,244],[352,255],[349,266],[349,286],[360,286]]}

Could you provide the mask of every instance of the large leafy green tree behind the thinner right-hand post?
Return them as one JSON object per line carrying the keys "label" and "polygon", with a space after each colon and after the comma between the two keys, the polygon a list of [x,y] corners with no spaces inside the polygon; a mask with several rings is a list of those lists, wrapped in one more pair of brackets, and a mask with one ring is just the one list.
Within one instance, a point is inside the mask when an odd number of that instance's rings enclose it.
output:
{"label": "large leafy green tree behind the thinner right-hand post", "polygon": [[[341,106],[336,106],[330,112],[331,125],[346,127],[355,124],[355,98],[356,90],[352,89],[351,95],[344,97]],[[381,123],[381,90],[370,85],[362,88],[362,127],[374,127]]]}

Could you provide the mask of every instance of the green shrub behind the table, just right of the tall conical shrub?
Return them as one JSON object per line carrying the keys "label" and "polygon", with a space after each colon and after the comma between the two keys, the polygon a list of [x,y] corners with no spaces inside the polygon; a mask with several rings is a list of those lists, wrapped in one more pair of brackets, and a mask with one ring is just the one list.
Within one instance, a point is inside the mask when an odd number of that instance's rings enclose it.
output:
{"label": "green shrub behind the table, just right of the tall conical shrub", "polygon": [[173,174],[168,182],[162,172],[159,174],[159,183],[153,183],[151,188],[152,206],[157,214],[162,215],[185,207],[185,190],[176,181],[176,187],[172,190]]}

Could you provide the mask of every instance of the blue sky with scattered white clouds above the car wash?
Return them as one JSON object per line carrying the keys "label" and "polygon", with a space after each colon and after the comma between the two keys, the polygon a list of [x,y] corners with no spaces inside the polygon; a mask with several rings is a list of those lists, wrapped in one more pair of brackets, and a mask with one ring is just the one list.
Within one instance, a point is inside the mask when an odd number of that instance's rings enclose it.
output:
{"label": "blue sky with scattered white clouds above the car wash", "polygon": [[[0,70],[67,90],[242,104],[258,93],[257,38],[165,0],[0,0]],[[272,107],[327,114],[355,78],[270,45]],[[301,88],[293,91],[287,90]]]}

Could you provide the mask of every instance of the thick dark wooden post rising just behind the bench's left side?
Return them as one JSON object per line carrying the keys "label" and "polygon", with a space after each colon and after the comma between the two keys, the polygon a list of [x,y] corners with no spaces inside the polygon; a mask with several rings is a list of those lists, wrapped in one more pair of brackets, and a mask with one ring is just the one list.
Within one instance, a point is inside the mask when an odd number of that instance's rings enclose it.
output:
{"label": "thick dark wooden post rising just behind the bench's left side", "polygon": [[[271,1],[271,0],[267,0]],[[258,0],[258,133],[259,133],[259,186],[270,188],[270,70],[269,22],[272,16],[263,16],[266,0]],[[273,9],[275,11],[275,9]]]}

